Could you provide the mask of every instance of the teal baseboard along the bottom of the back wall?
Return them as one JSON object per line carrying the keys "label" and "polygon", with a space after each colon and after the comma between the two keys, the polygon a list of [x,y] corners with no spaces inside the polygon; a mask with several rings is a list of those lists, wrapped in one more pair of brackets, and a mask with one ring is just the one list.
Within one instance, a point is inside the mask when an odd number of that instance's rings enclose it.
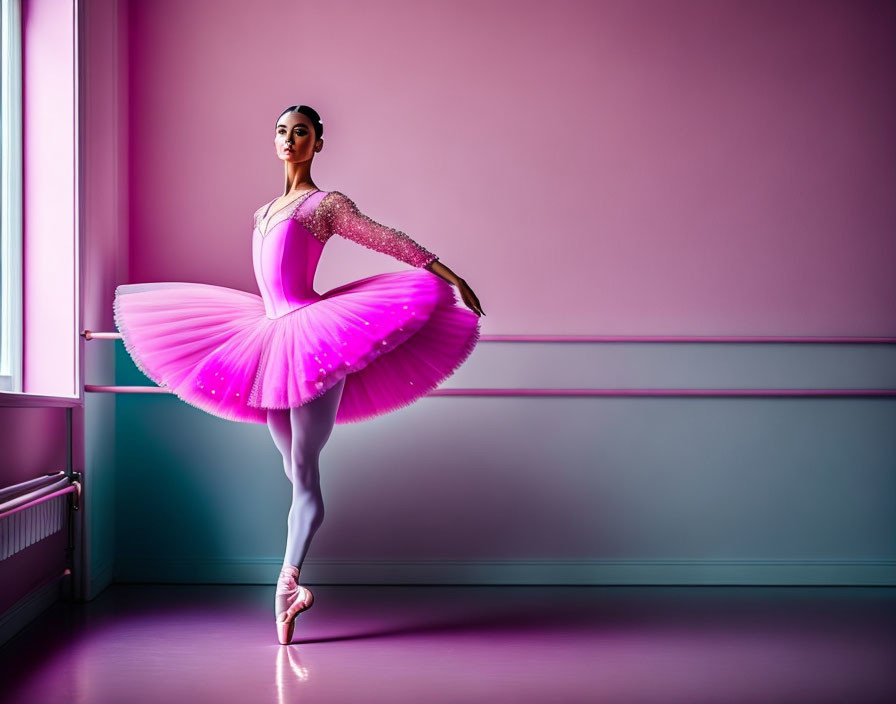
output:
{"label": "teal baseboard along the bottom of the back wall", "polygon": [[[129,558],[116,582],[272,584],[281,559]],[[308,584],[894,586],[896,560],[327,560]]]}

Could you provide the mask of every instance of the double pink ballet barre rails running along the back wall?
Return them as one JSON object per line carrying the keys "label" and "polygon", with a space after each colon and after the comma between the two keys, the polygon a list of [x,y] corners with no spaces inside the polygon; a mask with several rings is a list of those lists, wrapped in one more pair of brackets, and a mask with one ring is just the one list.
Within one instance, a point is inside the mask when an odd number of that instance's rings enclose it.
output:
{"label": "double pink ballet barre rails running along the back wall", "polygon": [[[117,340],[119,332],[94,332],[84,330],[81,336],[86,340]],[[748,335],[692,337],[685,335],[482,335],[480,342],[550,342],[550,343],[690,343],[690,344],[851,344],[851,345],[893,345],[896,337],[762,337]],[[91,393],[136,393],[170,394],[161,386],[108,386],[85,384],[84,390]],[[491,396],[491,397],[698,397],[698,398],[738,398],[738,397],[791,397],[791,398],[863,398],[896,397],[896,389],[667,389],[667,388],[627,388],[627,389],[576,389],[576,388],[514,388],[514,389],[435,389],[426,396]]]}

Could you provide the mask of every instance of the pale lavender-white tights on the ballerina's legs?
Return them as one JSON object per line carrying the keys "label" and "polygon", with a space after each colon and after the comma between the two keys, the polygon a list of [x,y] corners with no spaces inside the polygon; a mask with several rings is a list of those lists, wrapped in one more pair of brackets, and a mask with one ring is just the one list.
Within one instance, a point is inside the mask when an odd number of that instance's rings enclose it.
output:
{"label": "pale lavender-white tights on the ballerina's legs", "polygon": [[342,398],[345,377],[322,396],[303,406],[268,410],[268,429],[283,455],[283,469],[292,482],[292,506],[286,521],[284,565],[299,569],[311,539],[324,520],[320,491],[320,451],[330,437]]}

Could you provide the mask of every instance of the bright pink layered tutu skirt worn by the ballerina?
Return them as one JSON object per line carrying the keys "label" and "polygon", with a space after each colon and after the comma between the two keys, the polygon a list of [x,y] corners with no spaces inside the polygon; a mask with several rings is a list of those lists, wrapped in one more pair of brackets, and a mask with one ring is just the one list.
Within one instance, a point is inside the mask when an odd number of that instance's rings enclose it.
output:
{"label": "bright pink layered tutu skirt worn by the ballerina", "polygon": [[261,296],[201,283],[123,284],[115,324],[134,363],[212,415],[266,423],[346,377],[336,423],[410,405],[479,339],[479,316],[423,269],[376,274],[268,318]]}

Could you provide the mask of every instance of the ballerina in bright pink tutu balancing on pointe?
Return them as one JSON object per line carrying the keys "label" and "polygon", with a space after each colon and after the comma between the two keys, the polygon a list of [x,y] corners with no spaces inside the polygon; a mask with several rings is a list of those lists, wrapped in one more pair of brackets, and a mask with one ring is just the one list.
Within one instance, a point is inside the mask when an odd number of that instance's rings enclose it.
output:
{"label": "ballerina in bright pink tutu balancing on pointe", "polygon": [[[448,378],[479,340],[479,299],[428,249],[311,178],[323,123],[284,110],[274,147],[284,193],[255,211],[252,260],[261,296],[188,282],[123,284],[115,323],[137,367],[178,398],[237,422],[265,423],[292,484],[286,553],[274,599],[292,640],[314,603],[299,575],[324,518],[318,460],[333,426],[406,407]],[[313,289],[324,245],[340,235],[411,265]],[[466,310],[458,305],[456,287]]]}

